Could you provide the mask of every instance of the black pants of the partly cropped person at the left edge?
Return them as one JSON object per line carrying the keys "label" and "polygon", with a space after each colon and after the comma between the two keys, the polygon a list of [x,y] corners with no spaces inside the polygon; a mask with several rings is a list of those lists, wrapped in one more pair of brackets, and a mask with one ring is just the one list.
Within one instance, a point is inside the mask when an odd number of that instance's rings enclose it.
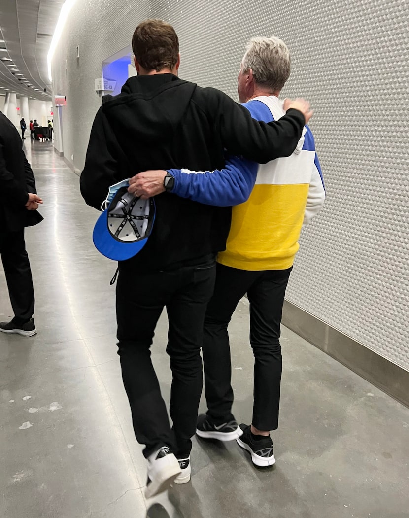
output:
{"label": "black pants of the partly cropped person at the left edge", "polygon": [[19,325],[34,313],[34,289],[30,261],[25,251],[24,229],[0,232],[0,253],[6,274],[14,322]]}

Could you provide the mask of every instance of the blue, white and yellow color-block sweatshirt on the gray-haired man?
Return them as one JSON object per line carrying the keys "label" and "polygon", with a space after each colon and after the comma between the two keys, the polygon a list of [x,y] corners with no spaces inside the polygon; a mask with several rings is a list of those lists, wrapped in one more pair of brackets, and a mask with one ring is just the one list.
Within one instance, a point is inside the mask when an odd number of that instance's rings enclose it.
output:
{"label": "blue, white and yellow color-block sweatshirt on the gray-haired man", "polygon": [[[275,96],[256,97],[244,106],[254,119],[264,122],[278,120],[285,113]],[[193,175],[189,173],[197,171],[169,171],[175,176],[175,194],[212,205],[239,199],[236,203],[240,205],[232,209],[226,250],[218,254],[217,261],[242,270],[292,266],[302,225],[319,212],[325,200],[322,171],[308,126],[292,155],[267,164],[232,157],[221,170]],[[241,203],[253,185],[249,199]]]}

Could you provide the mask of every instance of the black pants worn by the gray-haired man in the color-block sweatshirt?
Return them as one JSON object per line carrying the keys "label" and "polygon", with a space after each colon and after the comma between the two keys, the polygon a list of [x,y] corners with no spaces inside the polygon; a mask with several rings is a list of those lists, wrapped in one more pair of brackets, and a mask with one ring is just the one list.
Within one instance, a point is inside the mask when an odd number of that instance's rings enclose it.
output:
{"label": "black pants worn by the gray-haired man in the color-block sweatshirt", "polygon": [[282,371],[280,323],[291,269],[247,271],[217,264],[216,284],[206,312],[203,336],[208,415],[216,424],[233,419],[227,326],[239,300],[247,293],[254,355],[252,423],[260,430],[278,427]]}

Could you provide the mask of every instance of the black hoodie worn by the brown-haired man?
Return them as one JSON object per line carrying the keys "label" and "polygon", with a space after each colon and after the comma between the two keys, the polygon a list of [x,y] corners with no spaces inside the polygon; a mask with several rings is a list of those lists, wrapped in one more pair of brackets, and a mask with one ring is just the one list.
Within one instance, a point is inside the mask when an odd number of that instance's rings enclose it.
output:
{"label": "black hoodie worn by the brown-haired man", "polygon": [[[100,209],[110,185],[147,169],[213,170],[224,166],[224,150],[265,163],[289,156],[304,117],[288,110],[265,124],[226,94],[200,88],[172,74],[137,76],[122,92],[108,95],[92,126],[81,194]],[[156,220],[148,243],[124,267],[177,268],[202,262],[225,249],[231,210],[179,198],[155,196]]]}

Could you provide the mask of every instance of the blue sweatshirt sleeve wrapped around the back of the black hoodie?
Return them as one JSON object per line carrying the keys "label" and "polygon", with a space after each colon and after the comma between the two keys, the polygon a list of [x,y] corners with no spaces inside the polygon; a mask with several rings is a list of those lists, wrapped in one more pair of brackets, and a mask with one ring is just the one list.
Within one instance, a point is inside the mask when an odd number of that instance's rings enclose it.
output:
{"label": "blue sweatshirt sleeve wrapped around the back of the black hoodie", "polygon": [[230,156],[223,169],[168,169],[168,172],[174,176],[172,193],[205,205],[229,207],[244,203],[249,198],[257,169],[256,162]]}

